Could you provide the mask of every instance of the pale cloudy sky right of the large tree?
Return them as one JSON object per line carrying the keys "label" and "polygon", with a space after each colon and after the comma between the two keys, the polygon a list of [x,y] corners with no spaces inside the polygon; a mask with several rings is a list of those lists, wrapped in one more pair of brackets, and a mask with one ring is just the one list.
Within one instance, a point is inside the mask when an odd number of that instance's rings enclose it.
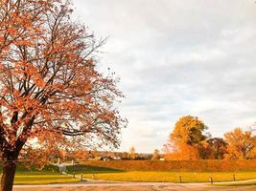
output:
{"label": "pale cloudy sky right of the large tree", "polygon": [[187,115],[213,137],[256,121],[255,0],[73,2],[76,19],[108,37],[100,70],[121,78],[120,151],[161,150]]}

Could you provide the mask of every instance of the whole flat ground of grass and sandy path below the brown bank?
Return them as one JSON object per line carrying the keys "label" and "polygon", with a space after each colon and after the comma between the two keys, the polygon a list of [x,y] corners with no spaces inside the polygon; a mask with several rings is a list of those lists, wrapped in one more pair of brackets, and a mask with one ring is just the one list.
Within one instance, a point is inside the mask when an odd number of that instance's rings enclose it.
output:
{"label": "whole flat ground of grass and sandy path below the brown bank", "polygon": [[[60,175],[56,166],[48,166],[42,171],[28,171],[19,167],[13,190],[256,191],[256,172],[126,172],[86,165],[68,166],[67,170],[69,174]],[[81,174],[83,181],[81,181]],[[182,183],[180,183],[180,176]],[[213,185],[208,182],[209,177],[215,181]],[[219,182],[216,183],[216,181]]]}

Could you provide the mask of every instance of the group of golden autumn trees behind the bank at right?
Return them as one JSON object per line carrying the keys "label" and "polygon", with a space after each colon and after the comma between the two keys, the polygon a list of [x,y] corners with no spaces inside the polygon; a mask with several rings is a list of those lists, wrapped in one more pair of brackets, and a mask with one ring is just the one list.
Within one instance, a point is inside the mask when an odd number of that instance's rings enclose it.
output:
{"label": "group of golden autumn trees behind the bank at right", "polygon": [[256,137],[236,128],[212,138],[198,117],[181,117],[164,145],[166,159],[256,159]]}

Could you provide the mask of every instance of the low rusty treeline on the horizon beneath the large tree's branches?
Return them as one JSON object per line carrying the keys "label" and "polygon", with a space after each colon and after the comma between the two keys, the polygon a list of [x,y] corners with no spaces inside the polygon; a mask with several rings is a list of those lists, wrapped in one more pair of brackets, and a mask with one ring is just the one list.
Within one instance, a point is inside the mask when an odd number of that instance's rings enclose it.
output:
{"label": "low rusty treeline on the horizon beneath the large tree's branches", "polygon": [[114,152],[114,151],[97,151],[87,150],[84,148],[70,148],[64,149],[52,147],[47,149],[44,147],[30,146],[22,150],[19,160],[28,169],[36,168],[42,169],[45,165],[65,162],[65,161],[81,161],[81,160],[128,160],[128,159],[160,159],[159,150],[155,149],[153,154],[136,153],[132,146],[128,152]]}

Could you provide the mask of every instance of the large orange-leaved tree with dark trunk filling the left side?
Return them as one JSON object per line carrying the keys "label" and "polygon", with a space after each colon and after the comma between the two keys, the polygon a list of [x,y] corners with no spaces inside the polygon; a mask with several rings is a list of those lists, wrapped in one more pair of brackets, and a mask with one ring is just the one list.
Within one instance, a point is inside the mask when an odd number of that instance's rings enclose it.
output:
{"label": "large orange-leaved tree with dark trunk filling the left side", "polygon": [[70,19],[69,1],[0,1],[1,190],[12,190],[21,149],[31,138],[52,143],[119,145],[126,120],[113,107],[122,93],[96,71],[105,41]]}

